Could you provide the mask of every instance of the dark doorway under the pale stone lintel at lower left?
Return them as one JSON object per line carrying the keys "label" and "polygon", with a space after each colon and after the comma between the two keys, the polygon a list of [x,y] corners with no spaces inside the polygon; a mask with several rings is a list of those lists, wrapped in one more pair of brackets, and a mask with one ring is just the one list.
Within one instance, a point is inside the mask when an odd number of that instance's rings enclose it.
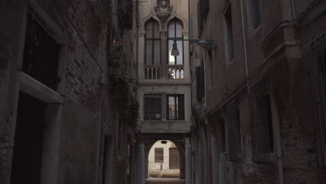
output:
{"label": "dark doorway under the pale stone lintel at lower left", "polygon": [[40,183],[47,104],[20,93],[11,184]]}

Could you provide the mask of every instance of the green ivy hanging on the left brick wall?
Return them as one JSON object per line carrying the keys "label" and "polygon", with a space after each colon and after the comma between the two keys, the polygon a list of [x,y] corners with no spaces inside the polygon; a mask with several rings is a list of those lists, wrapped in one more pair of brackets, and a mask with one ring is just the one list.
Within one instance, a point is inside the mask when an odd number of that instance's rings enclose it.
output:
{"label": "green ivy hanging on the left brick wall", "polygon": [[122,43],[112,47],[111,62],[109,63],[109,85],[118,114],[131,128],[136,128],[139,118],[139,102],[136,97],[135,79],[130,76],[125,61]]}

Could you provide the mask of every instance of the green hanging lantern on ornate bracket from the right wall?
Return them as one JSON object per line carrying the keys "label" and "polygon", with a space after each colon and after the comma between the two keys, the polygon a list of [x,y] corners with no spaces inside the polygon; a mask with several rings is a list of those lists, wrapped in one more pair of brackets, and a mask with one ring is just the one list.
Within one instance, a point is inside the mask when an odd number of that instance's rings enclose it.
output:
{"label": "green hanging lantern on ornate bracket from the right wall", "polygon": [[190,45],[199,45],[208,50],[215,50],[217,48],[217,40],[200,40],[200,39],[174,39],[172,45],[171,56],[179,56],[177,41],[189,41]]}

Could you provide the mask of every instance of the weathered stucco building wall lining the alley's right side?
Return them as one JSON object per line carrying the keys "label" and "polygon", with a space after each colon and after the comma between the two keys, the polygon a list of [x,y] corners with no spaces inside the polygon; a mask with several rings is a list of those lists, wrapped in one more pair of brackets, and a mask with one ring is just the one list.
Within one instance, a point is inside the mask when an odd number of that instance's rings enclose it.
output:
{"label": "weathered stucco building wall lining the alley's right side", "polygon": [[205,70],[203,89],[193,84],[193,99],[204,95],[193,101],[192,183],[326,183],[325,1],[191,7],[190,38],[218,43],[192,57]]}

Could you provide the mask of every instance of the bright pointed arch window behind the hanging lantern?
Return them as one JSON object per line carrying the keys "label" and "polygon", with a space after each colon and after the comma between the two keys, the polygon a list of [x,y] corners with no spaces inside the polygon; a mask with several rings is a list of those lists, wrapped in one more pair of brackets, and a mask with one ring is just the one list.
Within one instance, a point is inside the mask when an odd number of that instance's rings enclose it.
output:
{"label": "bright pointed arch window behind the hanging lantern", "polygon": [[178,40],[179,56],[171,56],[173,39],[183,39],[183,22],[177,18],[171,20],[168,24],[169,34],[169,65],[183,65],[183,41]]}

